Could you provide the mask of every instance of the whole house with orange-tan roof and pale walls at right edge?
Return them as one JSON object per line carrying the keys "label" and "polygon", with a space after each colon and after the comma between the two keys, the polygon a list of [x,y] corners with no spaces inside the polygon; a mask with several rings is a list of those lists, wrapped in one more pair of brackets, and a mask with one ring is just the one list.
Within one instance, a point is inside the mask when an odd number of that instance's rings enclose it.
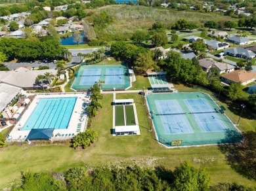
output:
{"label": "whole house with orange-tan roof and pale walls at right edge", "polygon": [[256,73],[244,70],[237,70],[232,73],[226,73],[221,76],[221,80],[226,84],[241,83],[242,85],[256,81]]}

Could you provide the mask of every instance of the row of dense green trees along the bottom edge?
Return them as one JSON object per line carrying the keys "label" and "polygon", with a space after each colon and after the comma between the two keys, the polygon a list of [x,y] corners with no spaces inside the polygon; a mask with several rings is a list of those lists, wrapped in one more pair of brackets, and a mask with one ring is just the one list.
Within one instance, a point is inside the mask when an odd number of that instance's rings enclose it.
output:
{"label": "row of dense green trees along the bottom edge", "polygon": [[182,162],[173,171],[159,166],[142,169],[138,165],[120,168],[75,167],[64,172],[22,171],[12,190],[252,190],[236,183],[209,186],[204,169]]}

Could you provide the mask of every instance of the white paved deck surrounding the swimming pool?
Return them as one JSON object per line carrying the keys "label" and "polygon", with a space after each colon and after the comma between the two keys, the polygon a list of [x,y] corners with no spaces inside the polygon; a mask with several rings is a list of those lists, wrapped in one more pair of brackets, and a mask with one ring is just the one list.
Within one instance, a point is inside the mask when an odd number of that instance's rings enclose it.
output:
{"label": "white paved deck surrounding the swimming pool", "polygon": [[[74,106],[74,110],[72,112],[72,116],[71,116],[70,122],[68,124],[68,128],[54,130],[52,140],[72,138],[73,133],[74,133],[74,135],[77,135],[77,133],[79,133],[80,131],[81,132],[85,131],[88,116],[86,114],[83,114],[82,117],[80,116],[81,113],[83,113],[83,111],[85,111],[85,108],[83,107],[83,103],[90,102],[89,98],[85,98],[85,96],[86,96],[85,94],[37,95],[35,97],[35,99],[33,99],[30,106],[26,109],[26,112],[22,115],[20,120],[18,120],[18,122],[14,126],[13,130],[9,134],[11,138],[9,138],[7,141],[25,141],[26,140],[25,136],[26,137],[28,136],[28,134],[30,133],[30,130],[22,131],[21,128],[24,126],[24,124],[26,124],[26,121],[28,120],[30,115],[33,113],[33,110],[37,106],[37,102],[41,98],[77,97],[77,100],[76,100],[75,106]],[[79,126],[79,124],[81,124],[81,129],[80,129],[80,131],[77,132],[77,126]],[[59,136],[62,134],[64,134],[63,137]],[[66,136],[66,134],[68,134],[68,135],[71,134],[71,136]],[[55,137],[55,135],[57,135],[57,136]]]}

